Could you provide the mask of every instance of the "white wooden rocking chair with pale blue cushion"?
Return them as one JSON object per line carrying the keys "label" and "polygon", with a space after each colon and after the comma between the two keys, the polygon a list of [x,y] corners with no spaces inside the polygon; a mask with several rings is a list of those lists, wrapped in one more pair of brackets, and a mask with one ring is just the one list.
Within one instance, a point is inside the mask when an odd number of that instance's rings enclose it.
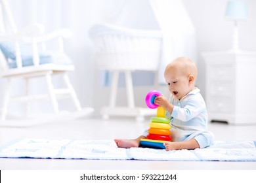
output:
{"label": "white wooden rocking chair with pale blue cushion", "polygon": [[[17,30],[11,16],[11,10],[5,0],[0,0],[0,12],[3,14],[2,16],[0,14],[0,74],[2,78],[7,80],[0,121],[7,120],[9,103],[11,101],[26,102],[26,116],[29,116],[28,103],[30,101],[51,99],[54,113],[59,113],[58,95],[66,95],[72,98],[75,110],[81,112],[81,115],[78,116],[92,112],[92,108],[81,108],[68,77],[68,72],[74,71],[74,65],[72,65],[72,61],[64,53],[63,39],[70,37],[72,32],[68,29],[59,29],[53,33],[41,35],[43,25],[39,24]],[[6,22],[9,23],[9,26],[6,26]],[[9,31],[7,32],[8,27]],[[58,50],[54,53],[47,52],[47,41],[52,40],[58,42]],[[66,88],[54,88],[52,82],[54,75],[63,76]],[[49,91],[46,95],[30,95],[30,79],[38,77],[43,77],[46,80]],[[25,80],[26,95],[22,97],[11,96],[11,83],[16,78],[24,78]],[[40,86],[40,82],[37,84]]]}

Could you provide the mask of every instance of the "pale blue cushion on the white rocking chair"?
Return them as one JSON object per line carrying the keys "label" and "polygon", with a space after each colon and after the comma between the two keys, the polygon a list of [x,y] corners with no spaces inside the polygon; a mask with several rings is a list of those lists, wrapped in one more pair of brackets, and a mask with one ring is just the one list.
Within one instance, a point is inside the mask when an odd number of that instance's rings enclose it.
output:
{"label": "pale blue cushion on the white rocking chair", "polygon": [[[22,67],[33,65],[33,56],[32,49],[28,44],[24,42],[19,42],[20,44],[20,54],[22,58]],[[16,56],[15,56],[15,44],[14,42],[0,42],[0,49],[3,54],[9,58],[8,65],[9,68],[16,68]],[[69,65],[72,64],[72,61],[66,54],[64,53],[39,53],[39,65],[46,63],[55,63],[61,65]]]}

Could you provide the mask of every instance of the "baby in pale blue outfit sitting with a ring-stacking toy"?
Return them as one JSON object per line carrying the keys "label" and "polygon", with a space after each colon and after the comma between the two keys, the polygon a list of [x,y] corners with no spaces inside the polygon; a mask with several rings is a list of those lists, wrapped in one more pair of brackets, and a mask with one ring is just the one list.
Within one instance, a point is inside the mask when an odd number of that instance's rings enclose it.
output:
{"label": "baby in pale blue outfit sitting with a ring-stacking toy", "polygon": [[[200,90],[195,87],[198,71],[188,58],[176,58],[165,67],[164,77],[171,93],[169,101],[163,95],[154,103],[166,109],[171,119],[171,142],[165,142],[166,150],[205,148],[213,142],[213,133],[207,131],[207,109]],[[148,130],[137,139],[115,139],[118,147],[139,147],[140,139],[146,139]]]}

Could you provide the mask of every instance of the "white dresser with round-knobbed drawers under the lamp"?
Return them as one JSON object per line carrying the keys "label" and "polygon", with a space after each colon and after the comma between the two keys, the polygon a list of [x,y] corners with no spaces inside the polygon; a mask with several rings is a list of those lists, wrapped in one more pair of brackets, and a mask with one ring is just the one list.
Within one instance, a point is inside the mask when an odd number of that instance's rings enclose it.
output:
{"label": "white dresser with round-knobbed drawers under the lamp", "polygon": [[256,52],[203,52],[209,121],[256,124]]}

